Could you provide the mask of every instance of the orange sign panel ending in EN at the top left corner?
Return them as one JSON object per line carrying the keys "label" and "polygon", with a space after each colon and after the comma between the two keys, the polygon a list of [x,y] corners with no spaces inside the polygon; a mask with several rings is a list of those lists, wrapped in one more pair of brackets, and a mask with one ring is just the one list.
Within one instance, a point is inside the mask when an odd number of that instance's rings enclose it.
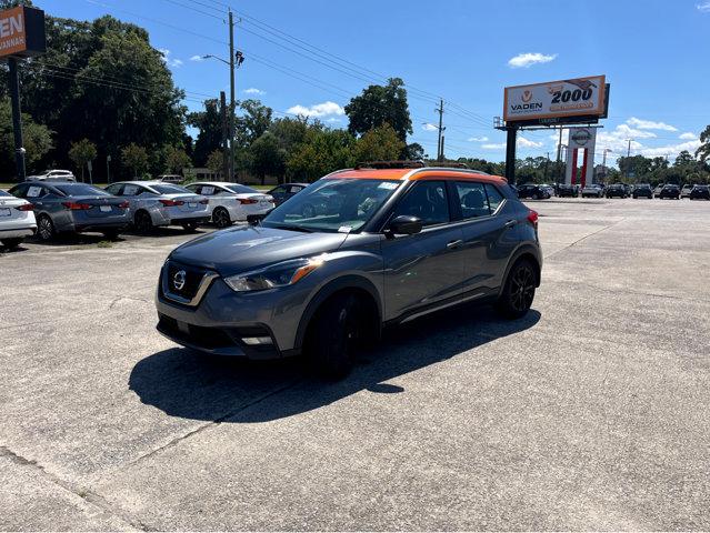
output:
{"label": "orange sign panel ending in EN at the top left corner", "polygon": [[0,12],[0,58],[44,53],[44,11],[18,6]]}

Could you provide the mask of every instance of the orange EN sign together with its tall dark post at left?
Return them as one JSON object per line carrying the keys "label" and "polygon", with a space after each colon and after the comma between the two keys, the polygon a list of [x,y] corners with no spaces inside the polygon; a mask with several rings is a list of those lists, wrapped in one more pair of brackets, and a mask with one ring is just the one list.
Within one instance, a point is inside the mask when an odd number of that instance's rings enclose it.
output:
{"label": "orange EN sign together with its tall dark post at left", "polygon": [[24,141],[22,139],[22,109],[20,107],[20,79],[18,59],[44,53],[44,11],[26,6],[0,12],[0,59],[8,58],[12,130],[14,133],[14,161],[18,180],[24,181]]}

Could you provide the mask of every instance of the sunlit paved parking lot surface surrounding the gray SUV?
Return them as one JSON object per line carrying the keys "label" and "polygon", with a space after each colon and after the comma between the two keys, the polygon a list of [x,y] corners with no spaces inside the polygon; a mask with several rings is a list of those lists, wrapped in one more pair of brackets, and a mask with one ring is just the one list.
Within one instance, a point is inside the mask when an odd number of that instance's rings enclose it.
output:
{"label": "sunlit paved parking lot surface surrounding the gray SUV", "polygon": [[154,332],[182,231],[0,254],[0,529],[709,530],[710,202],[530,204],[527,319],[330,384]]}

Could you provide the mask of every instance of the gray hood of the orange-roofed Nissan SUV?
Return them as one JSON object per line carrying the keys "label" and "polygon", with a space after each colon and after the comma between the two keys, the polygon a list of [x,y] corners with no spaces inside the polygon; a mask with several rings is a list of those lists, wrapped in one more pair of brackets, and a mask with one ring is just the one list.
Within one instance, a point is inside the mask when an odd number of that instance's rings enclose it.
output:
{"label": "gray hood of the orange-roofed Nissan SUV", "polygon": [[182,244],[171,261],[232,275],[289,259],[317,255],[340,248],[344,233],[302,233],[263,227],[234,227]]}

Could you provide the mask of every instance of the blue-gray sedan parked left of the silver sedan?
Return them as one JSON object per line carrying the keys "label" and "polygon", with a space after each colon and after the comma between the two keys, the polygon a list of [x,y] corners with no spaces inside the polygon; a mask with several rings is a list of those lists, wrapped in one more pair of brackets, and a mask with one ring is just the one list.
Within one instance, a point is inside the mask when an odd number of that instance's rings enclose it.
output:
{"label": "blue-gray sedan parked left of the silver sedan", "polygon": [[98,231],[116,239],[129,223],[128,202],[98,187],[66,181],[24,181],[10,194],[34,207],[37,234],[48,241],[58,233]]}

